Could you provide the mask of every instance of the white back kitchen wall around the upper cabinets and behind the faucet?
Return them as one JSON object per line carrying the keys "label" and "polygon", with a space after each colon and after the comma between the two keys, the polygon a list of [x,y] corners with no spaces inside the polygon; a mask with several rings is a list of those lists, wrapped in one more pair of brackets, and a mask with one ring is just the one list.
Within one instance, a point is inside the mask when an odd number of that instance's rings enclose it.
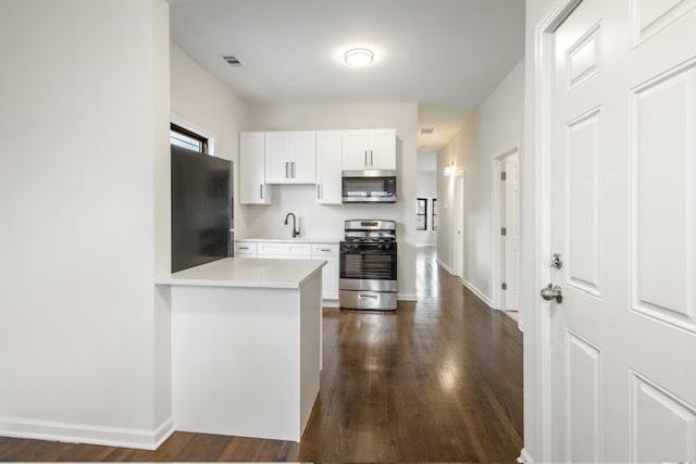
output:
{"label": "white back kitchen wall around the upper cabinets and behind the faucet", "polygon": [[414,298],[418,104],[252,105],[249,116],[250,130],[396,128],[399,197],[396,204],[320,205],[314,202],[314,186],[274,186],[272,205],[243,205],[241,210],[247,222],[245,238],[288,237],[290,228],[283,225],[288,212],[300,218],[302,234],[313,238],[340,239],[346,220],[397,221],[399,293]]}

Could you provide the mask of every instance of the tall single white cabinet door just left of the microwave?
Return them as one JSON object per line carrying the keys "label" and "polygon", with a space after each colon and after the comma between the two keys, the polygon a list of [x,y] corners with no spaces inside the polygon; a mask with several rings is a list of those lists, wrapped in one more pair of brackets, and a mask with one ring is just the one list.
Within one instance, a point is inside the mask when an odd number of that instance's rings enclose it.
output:
{"label": "tall single white cabinet door just left of the microwave", "polygon": [[340,130],[316,133],[316,202],[341,203],[344,136]]}

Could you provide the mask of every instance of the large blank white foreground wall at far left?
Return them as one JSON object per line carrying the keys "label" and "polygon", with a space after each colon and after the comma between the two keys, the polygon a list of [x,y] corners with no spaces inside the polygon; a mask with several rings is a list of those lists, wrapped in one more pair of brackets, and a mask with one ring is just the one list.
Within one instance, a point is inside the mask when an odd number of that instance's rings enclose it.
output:
{"label": "large blank white foreground wall at far left", "polygon": [[171,414],[152,285],[169,266],[169,5],[0,10],[0,435],[149,446]]}

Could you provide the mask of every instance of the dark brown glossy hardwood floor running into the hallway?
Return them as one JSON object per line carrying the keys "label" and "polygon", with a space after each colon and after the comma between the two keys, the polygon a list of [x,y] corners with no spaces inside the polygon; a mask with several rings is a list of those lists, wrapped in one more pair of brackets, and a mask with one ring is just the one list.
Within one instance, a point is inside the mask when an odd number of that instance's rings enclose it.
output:
{"label": "dark brown glossy hardwood floor running into the hallway", "polygon": [[0,438],[2,461],[508,461],[522,449],[522,337],[418,258],[418,303],[324,311],[320,397],[300,444],[174,434],[158,451]]}

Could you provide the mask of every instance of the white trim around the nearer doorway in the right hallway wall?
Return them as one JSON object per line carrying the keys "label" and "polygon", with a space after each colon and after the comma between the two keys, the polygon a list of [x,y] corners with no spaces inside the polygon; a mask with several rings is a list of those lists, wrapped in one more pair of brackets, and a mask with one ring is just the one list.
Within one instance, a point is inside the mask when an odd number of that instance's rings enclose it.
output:
{"label": "white trim around the nearer doorway in the right hallway wall", "polygon": [[[502,265],[502,236],[500,235],[500,228],[502,227],[502,209],[501,203],[502,203],[502,188],[501,188],[501,183],[500,183],[500,173],[502,172],[502,163],[505,163],[505,161],[517,154],[518,156],[520,155],[520,148],[519,146],[515,146],[514,148],[511,148],[507,151],[505,151],[502,154],[496,156],[493,159],[493,167],[492,167],[492,173],[493,173],[493,178],[492,178],[492,186],[493,188],[490,189],[492,195],[493,195],[493,199],[492,199],[492,203],[493,204],[493,215],[492,215],[492,228],[490,231],[493,233],[493,237],[490,240],[490,244],[493,247],[493,251],[492,251],[492,256],[493,256],[493,262],[490,265],[490,273],[492,273],[492,278],[490,281],[493,283],[493,308],[495,310],[502,310],[502,300],[505,299],[505,296],[502,293],[502,271],[504,271],[504,265]],[[519,158],[518,158],[519,159]]]}

